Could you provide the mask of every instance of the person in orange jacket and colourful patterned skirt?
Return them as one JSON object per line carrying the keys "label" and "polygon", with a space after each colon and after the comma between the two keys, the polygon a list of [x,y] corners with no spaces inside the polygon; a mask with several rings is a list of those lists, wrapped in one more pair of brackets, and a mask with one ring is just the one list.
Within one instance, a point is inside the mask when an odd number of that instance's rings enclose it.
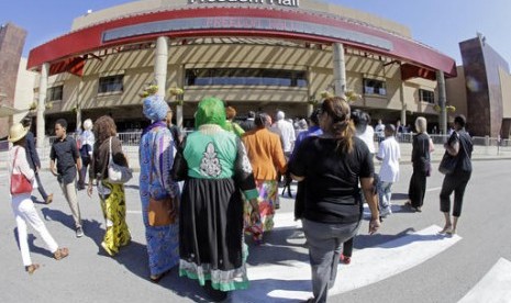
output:
{"label": "person in orange jacket and colourful patterned skirt", "polygon": [[280,138],[266,127],[266,115],[265,113],[257,114],[256,128],[246,132],[242,137],[254,170],[260,214],[260,222],[252,224],[252,206],[248,201],[245,202],[245,231],[253,235],[257,244],[263,242],[264,232],[274,228],[275,205],[278,195],[277,170],[280,173],[286,172],[286,159]]}

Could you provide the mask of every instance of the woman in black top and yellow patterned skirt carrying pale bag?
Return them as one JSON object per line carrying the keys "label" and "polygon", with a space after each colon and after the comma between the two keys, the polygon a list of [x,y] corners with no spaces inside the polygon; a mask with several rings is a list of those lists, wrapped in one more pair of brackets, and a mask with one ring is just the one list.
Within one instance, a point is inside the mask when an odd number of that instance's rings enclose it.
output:
{"label": "woman in black top and yellow patterned skirt carrying pale bag", "polygon": [[92,183],[98,183],[98,195],[105,221],[105,232],[101,247],[108,255],[114,256],[122,246],[131,242],[126,224],[126,199],[124,186],[113,183],[109,179],[109,162],[127,167],[127,160],[122,153],[121,141],[115,136],[115,122],[110,115],[100,116],[93,125],[95,146],[89,168],[89,186],[87,193],[92,195]]}

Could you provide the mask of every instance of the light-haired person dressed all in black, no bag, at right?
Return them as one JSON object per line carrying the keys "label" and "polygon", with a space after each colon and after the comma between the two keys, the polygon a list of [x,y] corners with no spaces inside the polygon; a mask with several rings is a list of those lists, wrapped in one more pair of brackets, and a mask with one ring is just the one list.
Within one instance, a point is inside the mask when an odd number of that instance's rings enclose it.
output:
{"label": "light-haired person dressed all in black, no bag, at right", "polygon": [[431,139],[426,133],[427,121],[423,116],[415,120],[415,131],[412,142],[412,165],[413,172],[410,179],[408,189],[409,200],[404,205],[410,206],[415,212],[422,212],[424,204],[424,195],[426,189],[426,177],[431,170],[431,156],[432,150]]}

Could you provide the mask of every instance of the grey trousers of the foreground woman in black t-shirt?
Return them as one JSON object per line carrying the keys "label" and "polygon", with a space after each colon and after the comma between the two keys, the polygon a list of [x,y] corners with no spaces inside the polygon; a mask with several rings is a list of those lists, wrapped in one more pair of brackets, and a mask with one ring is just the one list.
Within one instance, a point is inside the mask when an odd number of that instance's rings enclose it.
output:
{"label": "grey trousers of the foreground woman in black t-shirt", "polygon": [[342,244],[355,236],[360,222],[327,224],[303,218],[302,225],[309,245],[314,302],[323,303],[337,277]]}

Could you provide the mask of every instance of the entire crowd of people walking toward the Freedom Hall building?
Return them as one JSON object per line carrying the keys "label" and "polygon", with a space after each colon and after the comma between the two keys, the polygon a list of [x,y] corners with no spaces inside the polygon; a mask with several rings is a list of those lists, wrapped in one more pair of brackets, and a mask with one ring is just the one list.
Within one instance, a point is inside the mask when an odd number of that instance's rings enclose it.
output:
{"label": "entire crowd of people walking toward the Freedom Hall building", "polygon": [[[282,179],[290,182],[292,178],[298,182],[295,218],[302,221],[312,272],[313,298],[308,302],[326,302],[338,262],[351,262],[364,204],[370,212],[369,234],[376,233],[382,218],[392,214],[391,188],[399,181],[402,160],[396,141],[399,126],[379,120],[374,128],[369,114],[352,111],[342,97],[323,100],[308,121],[297,121],[297,127],[282,111],[275,113],[275,122],[269,113],[249,112],[248,119],[237,124],[234,108],[207,98],[198,104],[196,131],[185,138],[171,124],[173,111],[162,97],[145,98],[143,114],[151,125],[140,142],[138,186],[148,279],[153,282],[178,267],[179,276],[197,280],[220,300],[231,291],[248,288],[245,235],[252,236],[256,247],[264,242],[279,207],[279,184],[285,183]],[[10,173],[21,173],[36,184],[49,204],[54,195],[45,192],[37,173],[41,162],[30,122],[24,120],[10,128]],[[471,175],[473,147],[465,124],[463,115],[456,116],[453,134],[444,145],[446,155],[457,159],[457,164],[445,176],[440,195],[445,217],[443,234],[456,233],[463,194]],[[432,169],[430,154],[434,147],[426,126],[424,117],[416,119],[413,173],[406,203],[415,212],[421,212]],[[124,184],[109,176],[112,162],[129,167],[115,123],[109,115],[93,123],[86,120],[75,141],[67,135],[67,122],[59,119],[55,134],[49,170],[69,204],[76,236],[85,233],[77,190],[87,183],[89,197],[96,188],[105,223],[101,247],[114,257],[131,242]],[[375,158],[380,161],[378,173]],[[30,258],[27,223],[41,234],[55,259],[65,258],[69,250],[53,239],[38,217],[31,193],[12,191],[12,209],[22,260],[26,271],[33,273],[38,265]],[[170,203],[171,211],[168,222],[156,224],[151,217],[152,207],[162,201]]]}

